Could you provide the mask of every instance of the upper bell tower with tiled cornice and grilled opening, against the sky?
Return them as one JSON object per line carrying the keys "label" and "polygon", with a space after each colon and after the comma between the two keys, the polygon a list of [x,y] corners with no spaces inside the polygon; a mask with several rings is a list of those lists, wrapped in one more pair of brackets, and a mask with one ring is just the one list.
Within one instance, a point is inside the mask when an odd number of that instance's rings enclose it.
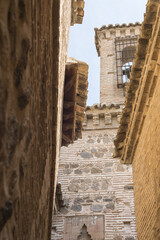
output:
{"label": "upper bell tower with tiled cornice and grilled opening, against the sky", "polygon": [[100,103],[124,104],[140,26],[137,22],[95,28],[95,44],[100,57]]}

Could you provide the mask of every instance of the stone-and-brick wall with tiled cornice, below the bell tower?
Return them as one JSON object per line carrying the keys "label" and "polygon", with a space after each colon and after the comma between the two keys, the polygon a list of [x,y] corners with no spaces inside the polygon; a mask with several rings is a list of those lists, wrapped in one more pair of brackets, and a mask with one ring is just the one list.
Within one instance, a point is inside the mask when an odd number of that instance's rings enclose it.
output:
{"label": "stone-and-brick wall with tiled cornice, below the bell tower", "polygon": [[120,105],[88,107],[82,139],[61,149],[64,204],[53,217],[53,240],[79,239],[85,226],[86,239],[136,239],[132,168],[112,157],[120,114]]}

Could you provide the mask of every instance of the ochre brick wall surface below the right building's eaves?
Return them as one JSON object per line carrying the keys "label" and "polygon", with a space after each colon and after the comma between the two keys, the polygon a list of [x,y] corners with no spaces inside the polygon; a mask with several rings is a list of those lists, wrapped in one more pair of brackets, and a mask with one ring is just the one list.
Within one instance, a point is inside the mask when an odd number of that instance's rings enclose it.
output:
{"label": "ochre brick wall surface below the right building's eaves", "polygon": [[158,240],[160,229],[160,83],[148,109],[133,159],[137,234],[140,240]]}

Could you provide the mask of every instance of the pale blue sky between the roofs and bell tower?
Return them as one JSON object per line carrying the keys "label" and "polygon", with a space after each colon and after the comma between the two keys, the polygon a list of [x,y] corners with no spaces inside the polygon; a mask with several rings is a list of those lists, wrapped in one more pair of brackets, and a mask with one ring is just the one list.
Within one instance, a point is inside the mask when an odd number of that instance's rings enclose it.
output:
{"label": "pale blue sky between the roofs and bell tower", "polygon": [[70,29],[68,56],[89,65],[87,105],[100,101],[100,58],[94,28],[108,24],[142,23],[147,0],[85,0],[83,23]]}

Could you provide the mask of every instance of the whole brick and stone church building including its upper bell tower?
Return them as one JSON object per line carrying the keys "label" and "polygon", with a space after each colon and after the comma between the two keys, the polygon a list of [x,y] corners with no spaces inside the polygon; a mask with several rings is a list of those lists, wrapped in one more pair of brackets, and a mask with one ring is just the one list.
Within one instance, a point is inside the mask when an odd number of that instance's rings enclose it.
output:
{"label": "whole brick and stone church building including its upper bell tower", "polygon": [[86,108],[82,139],[61,149],[53,240],[136,239],[132,168],[113,158],[113,141],[139,28],[96,29],[101,103]]}

